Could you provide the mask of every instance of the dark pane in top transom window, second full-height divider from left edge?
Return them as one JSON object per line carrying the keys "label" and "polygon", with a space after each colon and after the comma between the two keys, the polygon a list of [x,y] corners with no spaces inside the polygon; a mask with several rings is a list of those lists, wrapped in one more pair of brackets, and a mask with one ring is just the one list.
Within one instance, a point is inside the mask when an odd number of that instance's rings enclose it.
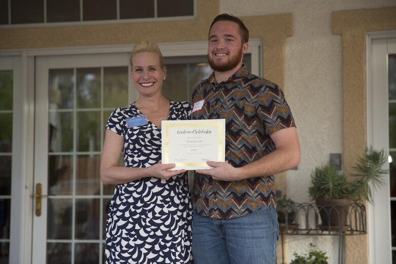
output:
{"label": "dark pane in top transom window, second full-height divider from left edge", "polygon": [[11,24],[43,23],[44,0],[12,0]]}

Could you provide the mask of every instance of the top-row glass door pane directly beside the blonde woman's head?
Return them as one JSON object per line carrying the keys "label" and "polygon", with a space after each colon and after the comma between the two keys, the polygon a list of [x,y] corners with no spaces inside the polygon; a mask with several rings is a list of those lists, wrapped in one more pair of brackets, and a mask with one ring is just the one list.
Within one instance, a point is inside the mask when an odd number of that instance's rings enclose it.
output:
{"label": "top-row glass door pane directly beside the blonde woman's head", "polygon": [[104,69],[104,107],[116,108],[128,105],[128,67]]}

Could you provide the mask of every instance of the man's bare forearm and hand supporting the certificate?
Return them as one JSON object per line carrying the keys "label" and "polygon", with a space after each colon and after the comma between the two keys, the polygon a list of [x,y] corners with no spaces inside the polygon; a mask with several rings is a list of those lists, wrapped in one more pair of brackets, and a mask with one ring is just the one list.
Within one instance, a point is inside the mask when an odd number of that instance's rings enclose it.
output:
{"label": "man's bare forearm and hand supporting the certificate", "polygon": [[238,181],[281,173],[300,164],[300,143],[295,127],[277,130],[270,137],[276,149],[246,166],[234,168],[228,162],[207,161],[214,168],[196,172],[211,175],[215,180]]}

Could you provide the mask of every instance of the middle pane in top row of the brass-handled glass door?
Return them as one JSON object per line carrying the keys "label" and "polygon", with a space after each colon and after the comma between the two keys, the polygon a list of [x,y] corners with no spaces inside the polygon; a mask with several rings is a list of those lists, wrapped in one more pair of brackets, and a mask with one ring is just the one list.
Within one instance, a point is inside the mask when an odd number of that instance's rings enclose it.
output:
{"label": "middle pane in top row of the brass-handled glass door", "polygon": [[101,69],[77,69],[77,108],[101,107]]}

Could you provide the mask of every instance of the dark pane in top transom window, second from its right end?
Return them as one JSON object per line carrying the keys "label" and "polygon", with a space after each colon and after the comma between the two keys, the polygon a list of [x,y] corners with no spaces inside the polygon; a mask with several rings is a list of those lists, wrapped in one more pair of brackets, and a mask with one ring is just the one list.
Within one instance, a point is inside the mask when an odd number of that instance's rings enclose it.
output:
{"label": "dark pane in top transom window, second from its right end", "polygon": [[154,17],[154,0],[120,0],[120,19]]}

